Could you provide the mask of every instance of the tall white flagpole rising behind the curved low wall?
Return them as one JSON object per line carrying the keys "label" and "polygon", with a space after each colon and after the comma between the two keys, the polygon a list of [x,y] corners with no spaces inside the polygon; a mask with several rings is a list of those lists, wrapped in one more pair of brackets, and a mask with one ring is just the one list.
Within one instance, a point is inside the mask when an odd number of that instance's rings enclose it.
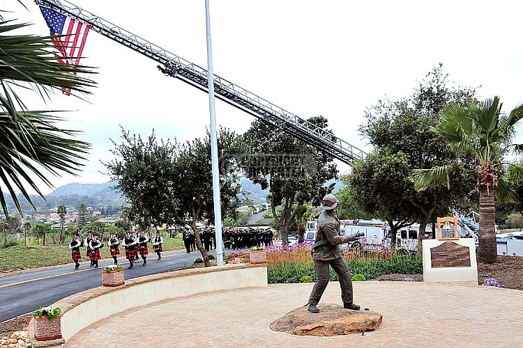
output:
{"label": "tall white flagpole rising behind the curved low wall", "polygon": [[216,134],[216,115],[214,110],[213,50],[211,48],[211,21],[209,19],[209,0],[205,0],[205,24],[207,29],[207,81],[209,81],[209,113],[211,118],[211,157],[213,167],[214,229],[216,232],[216,261],[223,264],[222,248],[222,210],[220,207],[220,172],[218,171],[218,139]]}

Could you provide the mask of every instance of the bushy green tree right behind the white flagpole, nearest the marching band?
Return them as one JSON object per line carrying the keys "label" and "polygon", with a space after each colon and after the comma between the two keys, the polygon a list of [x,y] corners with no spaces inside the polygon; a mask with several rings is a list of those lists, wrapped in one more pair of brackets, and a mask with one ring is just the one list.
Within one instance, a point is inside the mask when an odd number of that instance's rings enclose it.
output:
{"label": "bushy green tree right behind the white flagpole, nearest the marching band", "polygon": [[[130,136],[122,128],[123,143],[113,141],[115,158],[105,163],[114,189],[130,204],[124,209],[129,221],[139,226],[189,225],[205,266],[209,258],[199,239],[196,223],[214,219],[211,171],[211,136],[184,144],[156,141],[154,132],[148,141]],[[220,158],[220,203],[222,216],[236,216],[238,171],[234,156],[241,153],[241,139],[227,129],[218,132]]]}

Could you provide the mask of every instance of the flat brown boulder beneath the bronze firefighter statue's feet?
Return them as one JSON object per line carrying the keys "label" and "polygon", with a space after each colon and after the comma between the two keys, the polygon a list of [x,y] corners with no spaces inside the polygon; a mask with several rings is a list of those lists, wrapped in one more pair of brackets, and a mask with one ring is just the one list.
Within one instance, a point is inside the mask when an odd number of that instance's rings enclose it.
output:
{"label": "flat brown boulder beneath the bronze firefighter statue's feet", "polygon": [[269,325],[273,331],[292,335],[334,336],[374,331],[382,315],[370,310],[349,310],[335,304],[318,306],[319,313],[310,313],[307,306],[296,308]]}

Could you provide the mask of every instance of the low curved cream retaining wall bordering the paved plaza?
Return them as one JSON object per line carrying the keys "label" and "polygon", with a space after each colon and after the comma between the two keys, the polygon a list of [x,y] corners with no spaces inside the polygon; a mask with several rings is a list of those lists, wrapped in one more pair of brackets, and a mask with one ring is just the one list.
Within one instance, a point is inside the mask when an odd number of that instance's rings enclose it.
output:
{"label": "low curved cream retaining wall bordering the paved plaza", "polygon": [[[101,281],[100,274],[100,284]],[[29,324],[29,338],[35,348],[61,347],[78,331],[130,308],[203,292],[266,286],[266,264],[226,264],[133,278],[118,287],[95,287],[53,303],[54,308],[59,307],[63,312],[62,338],[37,341],[33,331],[34,319]]]}

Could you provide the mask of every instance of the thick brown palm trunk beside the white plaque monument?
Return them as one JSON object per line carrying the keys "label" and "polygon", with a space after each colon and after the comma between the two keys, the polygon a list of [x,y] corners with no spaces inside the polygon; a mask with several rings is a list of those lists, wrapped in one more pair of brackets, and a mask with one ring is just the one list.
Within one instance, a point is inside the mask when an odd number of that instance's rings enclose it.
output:
{"label": "thick brown palm trunk beside the white plaque monument", "polygon": [[494,263],[497,260],[496,232],[494,229],[494,189],[479,187],[480,230],[478,235],[478,262]]}

